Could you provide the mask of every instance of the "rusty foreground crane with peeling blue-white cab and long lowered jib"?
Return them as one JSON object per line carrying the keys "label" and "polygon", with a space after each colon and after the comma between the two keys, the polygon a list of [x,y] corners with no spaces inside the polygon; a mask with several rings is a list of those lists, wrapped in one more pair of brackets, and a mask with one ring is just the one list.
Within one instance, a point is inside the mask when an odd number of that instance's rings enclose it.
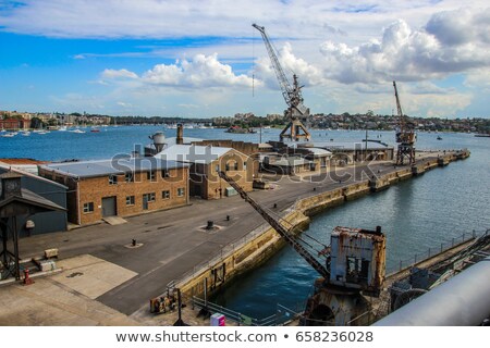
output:
{"label": "rusty foreground crane with peeling blue-white cab and long lowered jib", "polygon": [[[330,247],[319,251],[321,263],[295,238],[279,219],[266,211],[224,172],[228,182],[320,275],[315,294],[308,299],[305,325],[365,325],[371,318],[368,296],[379,296],[385,270],[385,238],[381,227],[375,231],[335,227]],[[311,238],[311,237],[310,237]]]}

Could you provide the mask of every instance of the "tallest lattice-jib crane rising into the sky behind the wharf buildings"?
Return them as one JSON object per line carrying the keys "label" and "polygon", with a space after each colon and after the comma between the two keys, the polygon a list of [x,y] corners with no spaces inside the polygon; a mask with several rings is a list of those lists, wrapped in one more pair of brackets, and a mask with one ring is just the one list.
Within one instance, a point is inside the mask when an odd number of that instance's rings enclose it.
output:
{"label": "tallest lattice-jib crane rising into the sky behind the wharf buildings", "polygon": [[284,138],[287,138],[292,141],[298,141],[301,139],[309,141],[311,139],[311,134],[303,123],[303,121],[307,122],[309,117],[309,109],[303,104],[303,86],[299,86],[296,74],[293,75],[293,85],[291,85],[291,83],[287,80],[287,77],[281,67],[281,64],[279,63],[275,50],[266,34],[266,28],[257,24],[253,24],[252,26],[259,30],[262,36],[264,44],[266,45],[267,52],[269,53],[269,58],[272,63],[272,67],[279,80],[279,86],[282,90],[282,96],[289,107],[287,110],[284,111],[284,114],[290,120],[290,122],[279,135],[279,139],[280,141],[283,141]]}

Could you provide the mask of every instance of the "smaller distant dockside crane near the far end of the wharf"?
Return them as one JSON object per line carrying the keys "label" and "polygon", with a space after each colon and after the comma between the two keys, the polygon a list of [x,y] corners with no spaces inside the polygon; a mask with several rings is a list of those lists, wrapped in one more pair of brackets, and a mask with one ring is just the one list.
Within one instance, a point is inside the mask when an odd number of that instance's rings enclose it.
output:
{"label": "smaller distant dockside crane near the far end of the wharf", "polygon": [[393,87],[395,90],[396,99],[396,111],[399,115],[399,126],[396,129],[396,142],[399,144],[399,149],[396,151],[396,165],[403,165],[405,159],[407,164],[415,164],[415,130],[414,125],[406,121],[405,115],[402,111],[402,104],[399,98],[399,91],[396,89],[396,82],[393,82]]}

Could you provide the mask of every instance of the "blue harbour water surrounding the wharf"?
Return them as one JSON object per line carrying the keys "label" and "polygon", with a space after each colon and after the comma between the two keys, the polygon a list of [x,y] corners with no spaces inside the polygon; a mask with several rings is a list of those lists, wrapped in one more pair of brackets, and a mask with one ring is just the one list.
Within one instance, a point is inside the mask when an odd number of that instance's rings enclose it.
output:
{"label": "blue harbour water surrounding the wharf", "polygon": [[[0,158],[33,158],[44,161],[69,159],[108,159],[118,153],[143,150],[148,136],[161,126],[105,127],[99,133],[51,132],[46,135],[0,137]],[[262,134],[228,134],[224,129],[185,129],[185,137],[234,139],[258,142],[277,140],[279,129]],[[175,129],[166,129],[174,137]],[[460,149],[471,151],[469,159],[448,167],[402,182],[390,189],[344,203],[316,215],[307,233],[329,244],[334,226],[373,228],[382,226],[387,234],[388,271],[400,260],[413,258],[429,247],[438,248],[463,232],[490,227],[490,139],[471,134],[418,135],[419,149]],[[314,141],[359,141],[362,130],[314,130]],[[392,132],[370,132],[369,138],[394,145]],[[259,217],[258,217],[259,219]],[[297,309],[311,290],[316,272],[286,247],[258,270],[230,284],[217,297],[219,303],[254,318],[274,313],[277,303]]]}

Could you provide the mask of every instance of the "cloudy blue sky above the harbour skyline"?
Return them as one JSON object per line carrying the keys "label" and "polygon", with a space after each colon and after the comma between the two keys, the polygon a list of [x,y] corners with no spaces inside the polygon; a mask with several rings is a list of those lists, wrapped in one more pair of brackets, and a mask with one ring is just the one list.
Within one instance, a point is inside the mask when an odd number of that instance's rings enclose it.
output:
{"label": "cloudy blue sky above the harbour skyline", "polygon": [[313,113],[490,117],[487,1],[0,0],[0,110],[282,113],[259,33]]}

